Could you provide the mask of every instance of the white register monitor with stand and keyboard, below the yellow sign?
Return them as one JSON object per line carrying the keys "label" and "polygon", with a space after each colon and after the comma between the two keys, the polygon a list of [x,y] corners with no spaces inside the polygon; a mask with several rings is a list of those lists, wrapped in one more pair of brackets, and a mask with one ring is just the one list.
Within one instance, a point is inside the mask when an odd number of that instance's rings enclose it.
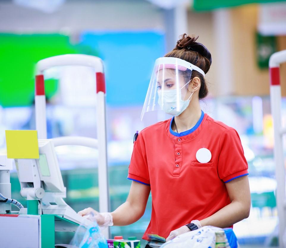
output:
{"label": "white register monitor with stand and keyboard, below the yellow sign", "polygon": [[[27,200],[41,200],[39,212],[56,214],[77,224],[91,224],[79,216],[62,198],[66,188],[59,169],[54,143],[51,139],[39,139],[39,159],[15,159],[21,195]],[[21,209],[20,213],[25,213]]]}

